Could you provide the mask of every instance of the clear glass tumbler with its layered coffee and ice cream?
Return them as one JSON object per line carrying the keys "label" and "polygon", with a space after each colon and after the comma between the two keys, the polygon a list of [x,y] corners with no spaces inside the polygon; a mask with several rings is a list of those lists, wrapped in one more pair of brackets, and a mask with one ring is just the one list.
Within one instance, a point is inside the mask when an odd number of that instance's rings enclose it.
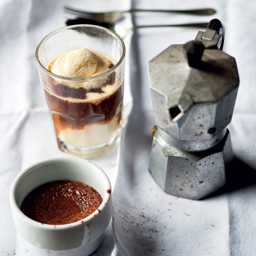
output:
{"label": "clear glass tumbler with its layered coffee and ice cream", "polygon": [[61,150],[90,158],[116,144],[124,58],[124,42],[100,26],[68,26],[40,42],[36,61]]}

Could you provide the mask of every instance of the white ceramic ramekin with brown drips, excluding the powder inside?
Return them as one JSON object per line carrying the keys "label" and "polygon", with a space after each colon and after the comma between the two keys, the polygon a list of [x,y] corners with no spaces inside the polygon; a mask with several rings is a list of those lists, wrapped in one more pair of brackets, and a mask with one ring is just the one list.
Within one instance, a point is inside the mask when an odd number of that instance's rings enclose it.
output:
{"label": "white ceramic ramekin with brown drips, excluding the powder inside", "polygon": [[[20,211],[24,198],[36,187],[54,180],[79,180],[95,188],[103,198],[97,211],[81,221],[47,225],[31,220]],[[55,157],[29,166],[17,175],[10,189],[13,221],[20,236],[45,250],[79,248],[90,255],[102,241],[111,220],[111,184],[99,166],[77,157]],[[77,253],[78,255],[78,253]]]}

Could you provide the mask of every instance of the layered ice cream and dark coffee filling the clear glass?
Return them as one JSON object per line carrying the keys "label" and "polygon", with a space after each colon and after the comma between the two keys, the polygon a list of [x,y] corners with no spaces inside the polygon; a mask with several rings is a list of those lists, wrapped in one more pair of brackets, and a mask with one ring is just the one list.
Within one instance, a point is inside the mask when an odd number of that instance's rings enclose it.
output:
{"label": "layered ice cream and dark coffee filling the clear glass", "polygon": [[84,48],[63,52],[47,65],[47,70],[63,77],[49,76],[44,85],[63,151],[68,148],[72,152],[74,146],[79,150],[107,147],[118,138],[124,92],[115,65],[116,61],[104,52]]}

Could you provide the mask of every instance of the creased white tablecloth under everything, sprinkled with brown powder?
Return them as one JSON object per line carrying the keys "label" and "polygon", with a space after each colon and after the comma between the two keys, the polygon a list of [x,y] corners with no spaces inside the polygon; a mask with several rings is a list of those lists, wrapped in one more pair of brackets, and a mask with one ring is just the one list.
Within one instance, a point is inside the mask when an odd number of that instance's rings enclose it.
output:
{"label": "creased white tablecloth under everything, sprinkled with brown powder", "polygon": [[[56,144],[35,62],[40,40],[65,26],[63,3],[67,1],[0,3],[0,255],[4,256],[33,255],[13,225],[8,197],[13,179],[36,161],[65,155]],[[228,186],[199,201],[167,195],[148,173],[154,115],[147,66],[169,45],[194,40],[198,29],[139,29],[125,38],[125,111],[132,106],[131,116],[121,145],[93,159],[113,186],[113,220],[93,255],[256,255],[256,1],[84,0],[68,4],[89,10],[215,8],[212,17],[143,13],[132,20],[141,25],[220,19],[226,31],[223,51],[236,58],[241,80],[228,125],[236,166],[228,176]]]}

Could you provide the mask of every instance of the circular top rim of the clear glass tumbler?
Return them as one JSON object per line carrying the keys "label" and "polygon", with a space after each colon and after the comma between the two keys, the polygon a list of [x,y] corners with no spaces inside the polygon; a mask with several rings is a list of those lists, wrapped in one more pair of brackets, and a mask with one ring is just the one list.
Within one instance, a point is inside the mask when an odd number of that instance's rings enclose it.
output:
{"label": "circular top rim of the clear glass tumbler", "polygon": [[[115,66],[110,68],[109,70],[102,72],[100,74],[97,74],[95,76],[88,76],[88,77],[79,77],[79,78],[73,78],[73,77],[65,77],[65,76],[59,76],[56,75],[54,73],[52,73],[51,71],[47,70],[47,68],[44,67],[44,65],[41,63],[41,61],[39,60],[38,57],[38,52],[39,49],[41,47],[41,45],[45,42],[45,40],[47,40],[49,37],[51,37],[52,35],[62,31],[62,30],[66,30],[66,29],[71,29],[71,28],[77,28],[77,27],[90,27],[90,28],[98,28],[98,29],[102,29],[104,31],[107,31],[109,34],[113,35],[115,38],[117,38],[118,42],[120,42],[120,44],[122,45],[122,56],[120,57],[120,59],[116,62]],[[52,31],[51,33],[49,33],[48,35],[46,35],[41,41],[40,43],[37,45],[36,47],[36,51],[35,51],[35,58],[36,58],[36,63],[38,64],[38,67],[40,67],[42,70],[44,70],[44,72],[46,72],[47,74],[49,74],[50,76],[54,76],[58,79],[62,79],[62,80],[67,80],[67,81],[90,81],[92,79],[99,79],[100,77],[105,77],[108,76],[109,74],[111,74],[113,71],[116,70],[116,68],[118,68],[121,63],[124,61],[125,58],[125,44],[124,41],[122,40],[122,38],[120,38],[120,36],[116,35],[116,33],[114,33],[113,31],[111,31],[108,28],[104,28],[102,26],[97,26],[97,25],[91,25],[91,24],[77,24],[77,25],[72,25],[72,26],[65,26],[63,28],[59,28],[56,29],[54,31]]]}

